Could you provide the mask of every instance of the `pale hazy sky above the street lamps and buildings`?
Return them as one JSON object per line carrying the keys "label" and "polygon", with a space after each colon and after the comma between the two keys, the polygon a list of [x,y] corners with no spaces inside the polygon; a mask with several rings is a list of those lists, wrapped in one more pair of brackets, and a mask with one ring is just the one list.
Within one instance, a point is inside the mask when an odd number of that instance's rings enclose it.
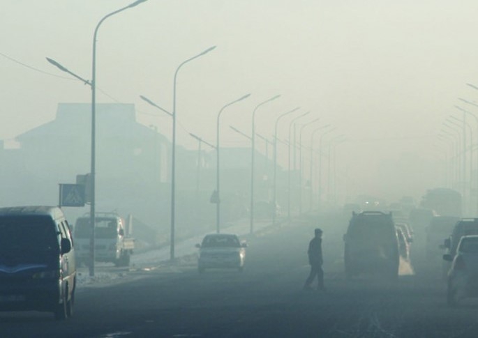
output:
{"label": "pale hazy sky above the street lamps and buildings", "polygon": [[[45,57],[91,79],[96,24],[131,2],[1,1],[0,139],[52,121],[59,102],[90,102],[89,86]],[[442,183],[436,135],[447,115],[460,116],[457,98],[478,100],[465,85],[478,84],[477,32],[472,0],[148,0],[100,27],[97,102],[134,103],[140,123],[169,137],[170,117],[139,95],[172,109],[177,66],[217,45],[179,72],[179,144],[197,146],[188,132],[213,143],[218,110],[251,93],[221,117],[223,146],[249,146],[227,126],[250,134],[255,105],[281,94],[257,111],[257,132],[270,137],[276,117],[300,106],[311,111],[300,121],[320,117],[317,127],[347,137],[337,166],[351,193],[415,194]],[[314,128],[304,129],[307,146]]]}

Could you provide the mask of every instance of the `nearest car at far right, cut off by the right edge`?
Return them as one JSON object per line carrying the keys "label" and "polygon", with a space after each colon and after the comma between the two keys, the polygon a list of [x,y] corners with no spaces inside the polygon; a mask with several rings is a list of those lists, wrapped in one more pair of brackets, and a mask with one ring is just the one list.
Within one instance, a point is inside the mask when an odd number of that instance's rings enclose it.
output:
{"label": "nearest car at far right, cut off by the right edge", "polygon": [[461,237],[456,255],[444,254],[443,259],[452,262],[447,281],[448,305],[457,305],[463,298],[478,297],[478,236]]}

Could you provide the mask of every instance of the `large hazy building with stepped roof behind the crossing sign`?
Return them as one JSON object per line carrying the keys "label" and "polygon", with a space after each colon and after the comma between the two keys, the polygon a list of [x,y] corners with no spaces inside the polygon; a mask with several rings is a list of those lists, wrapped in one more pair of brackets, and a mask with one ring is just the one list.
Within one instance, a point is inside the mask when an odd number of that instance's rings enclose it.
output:
{"label": "large hazy building with stepped roof behind the crossing sign", "polygon": [[[57,204],[59,183],[91,169],[91,104],[61,103],[54,121],[15,139],[17,148],[0,152],[1,204]],[[170,147],[137,123],[134,105],[97,104],[96,209],[142,213],[149,199],[165,200]]]}

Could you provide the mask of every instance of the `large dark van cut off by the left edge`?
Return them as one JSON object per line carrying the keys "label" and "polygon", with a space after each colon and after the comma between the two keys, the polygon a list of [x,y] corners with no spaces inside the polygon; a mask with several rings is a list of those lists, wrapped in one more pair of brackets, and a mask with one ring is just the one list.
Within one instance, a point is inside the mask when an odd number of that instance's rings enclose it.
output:
{"label": "large dark van cut off by the left edge", "polygon": [[56,206],[0,208],[0,311],[73,315],[75,250]]}

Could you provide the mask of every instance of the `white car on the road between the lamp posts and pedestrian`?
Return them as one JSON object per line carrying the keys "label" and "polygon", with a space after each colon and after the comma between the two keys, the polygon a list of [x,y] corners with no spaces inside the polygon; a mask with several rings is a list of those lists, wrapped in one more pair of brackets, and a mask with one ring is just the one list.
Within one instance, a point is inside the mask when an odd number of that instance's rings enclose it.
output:
{"label": "white car on the road between the lamp posts and pedestrian", "polygon": [[239,237],[233,234],[214,233],[206,235],[201,244],[197,261],[197,270],[202,273],[207,268],[244,269],[246,259],[246,243],[241,243]]}

